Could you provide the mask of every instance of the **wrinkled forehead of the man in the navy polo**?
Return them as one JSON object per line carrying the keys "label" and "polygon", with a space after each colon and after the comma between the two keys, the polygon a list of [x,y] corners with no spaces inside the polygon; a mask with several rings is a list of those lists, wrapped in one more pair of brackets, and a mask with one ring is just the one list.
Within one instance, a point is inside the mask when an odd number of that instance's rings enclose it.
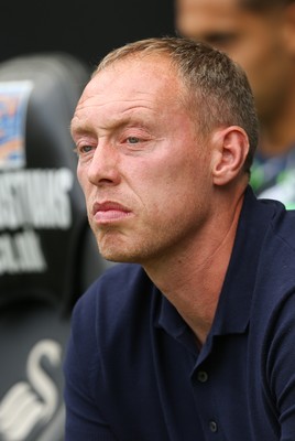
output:
{"label": "wrinkled forehead of the man in the navy polo", "polygon": [[77,105],[72,130],[89,119],[128,118],[134,112],[157,114],[181,106],[182,89],[168,58],[149,56],[118,61],[97,73],[86,86]]}

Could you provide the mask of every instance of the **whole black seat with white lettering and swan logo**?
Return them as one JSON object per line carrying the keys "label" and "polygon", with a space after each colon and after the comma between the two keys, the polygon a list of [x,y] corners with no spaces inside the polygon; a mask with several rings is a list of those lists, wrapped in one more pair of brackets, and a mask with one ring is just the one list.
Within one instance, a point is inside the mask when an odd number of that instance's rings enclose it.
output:
{"label": "whole black seat with white lettering and swan logo", "polygon": [[0,441],[63,440],[72,306],[108,267],[69,133],[89,75],[63,53],[0,64]]}

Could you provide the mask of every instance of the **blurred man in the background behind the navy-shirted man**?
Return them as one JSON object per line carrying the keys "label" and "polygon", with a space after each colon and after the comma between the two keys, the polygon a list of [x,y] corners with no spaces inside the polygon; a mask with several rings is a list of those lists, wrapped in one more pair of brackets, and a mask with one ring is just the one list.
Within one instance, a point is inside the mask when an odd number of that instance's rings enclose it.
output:
{"label": "blurred man in the background behind the navy-shirted man", "polygon": [[176,0],[175,20],[247,72],[260,119],[251,184],[295,207],[295,1]]}

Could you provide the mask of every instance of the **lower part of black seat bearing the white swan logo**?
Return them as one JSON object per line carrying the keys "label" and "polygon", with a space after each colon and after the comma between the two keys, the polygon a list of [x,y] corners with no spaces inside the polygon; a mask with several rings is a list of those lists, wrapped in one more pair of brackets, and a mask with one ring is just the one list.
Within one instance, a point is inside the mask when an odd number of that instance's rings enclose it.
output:
{"label": "lower part of black seat bearing the white swan logo", "polygon": [[0,318],[0,440],[63,441],[63,358],[69,320],[33,301]]}

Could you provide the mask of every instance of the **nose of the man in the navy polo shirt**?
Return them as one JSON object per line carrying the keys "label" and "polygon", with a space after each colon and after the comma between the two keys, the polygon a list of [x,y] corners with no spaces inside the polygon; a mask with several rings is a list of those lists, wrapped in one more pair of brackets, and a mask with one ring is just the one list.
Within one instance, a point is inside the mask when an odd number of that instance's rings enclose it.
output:
{"label": "nose of the man in the navy polo shirt", "polygon": [[94,185],[118,185],[119,162],[119,152],[114,147],[99,143],[88,168],[88,180]]}

